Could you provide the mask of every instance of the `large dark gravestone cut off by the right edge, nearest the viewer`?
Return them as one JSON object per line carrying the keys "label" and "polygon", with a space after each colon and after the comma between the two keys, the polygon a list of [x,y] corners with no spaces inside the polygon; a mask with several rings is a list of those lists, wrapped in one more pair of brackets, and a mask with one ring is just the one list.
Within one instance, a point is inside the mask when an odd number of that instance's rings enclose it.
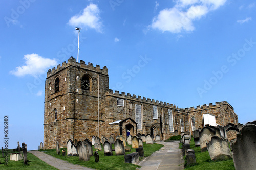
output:
{"label": "large dark gravestone cut off by the right edge, nearest the viewer", "polygon": [[236,170],[256,169],[256,125],[247,124],[231,144],[234,167]]}

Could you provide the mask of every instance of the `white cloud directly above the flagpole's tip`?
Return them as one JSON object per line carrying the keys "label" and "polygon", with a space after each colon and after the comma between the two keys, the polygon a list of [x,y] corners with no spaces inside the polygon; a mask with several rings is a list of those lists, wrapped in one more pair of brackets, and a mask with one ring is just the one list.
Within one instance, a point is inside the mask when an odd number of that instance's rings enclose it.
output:
{"label": "white cloud directly above the flagpole's tip", "polygon": [[100,10],[96,4],[90,4],[83,9],[82,14],[75,15],[69,20],[69,25],[74,27],[86,27],[102,33],[103,24],[100,19]]}

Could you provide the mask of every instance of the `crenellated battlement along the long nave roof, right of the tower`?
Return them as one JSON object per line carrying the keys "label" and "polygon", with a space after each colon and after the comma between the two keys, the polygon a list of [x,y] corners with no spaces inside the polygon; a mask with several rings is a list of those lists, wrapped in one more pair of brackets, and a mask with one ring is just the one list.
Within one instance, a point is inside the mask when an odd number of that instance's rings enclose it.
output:
{"label": "crenellated battlement along the long nave roof, right of the tower", "polygon": [[143,103],[150,103],[150,104],[155,104],[155,105],[161,105],[161,106],[170,106],[170,107],[176,107],[173,104],[170,103],[166,103],[166,102],[162,102],[162,101],[156,101],[155,99],[150,99],[150,98],[141,98],[141,96],[138,95],[138,97],[133,94],[131,95],[130,93],[127,93],[127,95],[125,94],[125,92],[121,92],[121,94],[119,93],[119,91],[115,91],[113,92],[113,90],[109,89],[105,91],[105,95],[106,96],[114,96],[116,98],[120,98],[120,99],[128,99],[128,100],[134,100],[134,101],[138,101],[138,102],[143,102]]}

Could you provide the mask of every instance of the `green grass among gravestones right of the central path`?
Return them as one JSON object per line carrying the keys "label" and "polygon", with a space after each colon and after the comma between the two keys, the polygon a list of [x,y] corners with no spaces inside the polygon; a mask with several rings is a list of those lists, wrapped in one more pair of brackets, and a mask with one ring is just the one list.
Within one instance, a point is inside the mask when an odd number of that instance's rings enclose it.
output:
{"label": "green grass among gravestones right of the central path", "polygon": [[207,169],[207,170],[234,170],[233,159],[226,161],[212,161],[208,151],[201,152],[200,147],[195,147],[194,139],[191,139],[190,148],[195,151],[197,163],[194,166],[188,167],[185,160],[185,169]]}

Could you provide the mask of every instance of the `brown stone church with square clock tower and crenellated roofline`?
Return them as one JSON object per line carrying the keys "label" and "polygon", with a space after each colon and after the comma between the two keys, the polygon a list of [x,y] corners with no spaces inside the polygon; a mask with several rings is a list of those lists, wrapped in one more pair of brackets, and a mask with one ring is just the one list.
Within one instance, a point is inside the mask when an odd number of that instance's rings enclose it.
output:
{"label": "brown stone church with square clock tower and crenellated roofline", "polygon": [[45,83],[44,149],[67,147],[67,141],[151,134],[162,140],[204,126],[238,124],[226,101],[196,108],[155,101],[109,89],[108,68],[71,57],[49,69]]}

